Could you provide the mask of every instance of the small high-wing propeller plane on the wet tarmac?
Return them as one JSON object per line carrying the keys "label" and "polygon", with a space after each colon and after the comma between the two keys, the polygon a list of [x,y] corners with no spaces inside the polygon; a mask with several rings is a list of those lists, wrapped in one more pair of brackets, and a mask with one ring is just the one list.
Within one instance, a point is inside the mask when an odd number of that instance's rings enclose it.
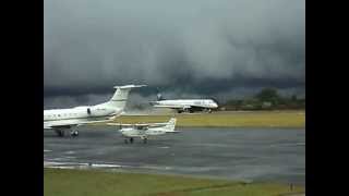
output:
{"label": "small high-wing propeller plane on the wet tarmac", "polygon": [[[168,133],[179,133],[174,131],[176,119],[172,118],[166,123],[144,123],[144,124],[121,124],[121,123],[108,123],[108,125],[120,126],[119,132],[124,137],[124,143],[128,144],[129,140],[132,144],[135,137],[143,139],[143,143],[147,143],[149,137],[155,137],[158,135],[164,135]],[[125,126],[125,127],[123,127]]]}

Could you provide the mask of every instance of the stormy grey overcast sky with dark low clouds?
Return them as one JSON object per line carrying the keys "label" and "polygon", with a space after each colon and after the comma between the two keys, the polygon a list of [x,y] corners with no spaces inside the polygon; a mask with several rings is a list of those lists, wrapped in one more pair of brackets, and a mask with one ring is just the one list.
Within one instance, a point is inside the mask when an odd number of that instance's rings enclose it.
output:
{"label": "stormy grey overcast sky with dark low clouds", "polygon": [[45,0],[44,107],[305,94],[304,0]]}

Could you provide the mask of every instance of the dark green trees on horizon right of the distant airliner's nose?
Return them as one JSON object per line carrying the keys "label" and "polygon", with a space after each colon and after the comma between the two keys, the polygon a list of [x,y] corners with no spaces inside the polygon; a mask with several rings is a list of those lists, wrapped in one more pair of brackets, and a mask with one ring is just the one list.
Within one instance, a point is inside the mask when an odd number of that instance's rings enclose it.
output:
{"label": "dark green trees on horizon right of the distant airliner's nose", "polygon": [[305,99],[296,95],[280,96],[274,88],[264,88],[255,96],[244,99],[230,99],[220,106],[221,110],[285,110],[305,109]]}

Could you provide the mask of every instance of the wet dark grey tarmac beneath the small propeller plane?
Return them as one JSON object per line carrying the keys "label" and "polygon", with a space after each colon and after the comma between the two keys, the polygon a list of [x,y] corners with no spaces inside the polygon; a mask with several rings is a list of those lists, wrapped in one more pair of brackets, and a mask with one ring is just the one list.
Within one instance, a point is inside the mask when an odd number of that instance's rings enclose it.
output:
{"label": "wet dark grey tarmac beneath the small propeller plane", "polygon": [[305,185],[304,128],[183,128],[124,144],[111,126],[79,128],[76,138],[44,132],[44,167],[188,174]]}

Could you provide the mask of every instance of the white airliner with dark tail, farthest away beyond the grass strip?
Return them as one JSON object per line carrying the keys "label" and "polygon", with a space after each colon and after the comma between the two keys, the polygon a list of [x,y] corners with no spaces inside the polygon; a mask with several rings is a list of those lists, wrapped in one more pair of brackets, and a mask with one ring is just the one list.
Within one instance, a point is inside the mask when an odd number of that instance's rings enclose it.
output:
{"label": "white airliner with dark tail, farthest away beyond the grass strip", "polygon": [[155,108],[170,108],[178,113],[194,111],[212,112],[212,109],[218,108],[218,103],[213,99],[173,99],[166,100],[160,94],[157,95],[157,101],[149,102]]}

